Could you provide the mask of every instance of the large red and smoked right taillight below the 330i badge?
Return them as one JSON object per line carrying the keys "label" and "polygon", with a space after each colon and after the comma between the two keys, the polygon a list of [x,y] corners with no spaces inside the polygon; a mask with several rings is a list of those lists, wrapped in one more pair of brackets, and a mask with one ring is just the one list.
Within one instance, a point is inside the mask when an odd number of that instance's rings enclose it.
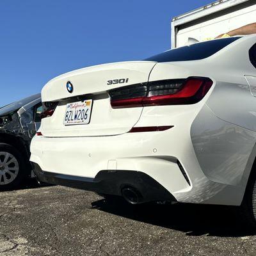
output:
{"label": "large red and smoked right taillight below the 330i badge", "polygon": [[205,77],[189,77],[134,84],[109,90],[112,108],[195,104],[212,86]]}

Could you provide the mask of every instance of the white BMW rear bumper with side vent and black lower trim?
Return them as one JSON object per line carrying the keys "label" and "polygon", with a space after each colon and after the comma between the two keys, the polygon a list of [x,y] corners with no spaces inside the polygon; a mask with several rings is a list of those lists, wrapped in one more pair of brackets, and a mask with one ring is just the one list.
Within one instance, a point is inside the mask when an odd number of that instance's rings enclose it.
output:
{"label": "white BMW rear bumper with side vent and black lower trim", "polygon": [[[154,180],[168,196],[159,189],[161,192],[154,191],[157,196],[150,194],[147,200],[172,200],[173,196],[177,202],[239,205],[243,197],[243,187],[221,182],[219,172],[219,180],[205,175],[189,125],[118,136],[35,136],[30,160],[42,169],[36,175],[43,182],[98,193],[120,195],[120,186],[127,180],[151,193],[154,189],[148,184]],[[119,176],[121,172],[125,179]]]}

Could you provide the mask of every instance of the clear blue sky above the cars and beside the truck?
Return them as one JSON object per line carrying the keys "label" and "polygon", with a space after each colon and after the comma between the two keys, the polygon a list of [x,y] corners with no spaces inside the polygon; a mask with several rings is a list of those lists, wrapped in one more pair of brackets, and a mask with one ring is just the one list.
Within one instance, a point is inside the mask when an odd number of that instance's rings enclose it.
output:
{"label": "clear blue sky above the cars and beside the truck", "polygon": [[170,20],[211,0],[1,0],[0,106],[51,78],[170,48]]}

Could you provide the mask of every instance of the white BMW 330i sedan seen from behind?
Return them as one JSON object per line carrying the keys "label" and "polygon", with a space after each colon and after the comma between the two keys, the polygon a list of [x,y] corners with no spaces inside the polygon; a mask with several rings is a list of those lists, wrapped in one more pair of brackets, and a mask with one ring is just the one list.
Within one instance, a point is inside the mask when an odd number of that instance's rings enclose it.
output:
{"label": "white BMW 330i sedan seen from behind", "polygon": [[42,182],[150,201],[241,205],[256,223],[256,35],[82,68],[42,89]]}

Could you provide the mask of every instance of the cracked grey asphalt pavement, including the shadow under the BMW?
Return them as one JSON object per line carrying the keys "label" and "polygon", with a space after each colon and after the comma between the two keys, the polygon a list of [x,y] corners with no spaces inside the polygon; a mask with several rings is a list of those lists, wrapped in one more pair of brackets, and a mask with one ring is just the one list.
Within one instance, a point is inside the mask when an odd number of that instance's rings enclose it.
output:
{"label": "cracked grey asphalt pavement, including the shadow under the BMW", "polygon": [[236,208],[109,202],[35,184],[0,192],[0,255],[256,255]]}

